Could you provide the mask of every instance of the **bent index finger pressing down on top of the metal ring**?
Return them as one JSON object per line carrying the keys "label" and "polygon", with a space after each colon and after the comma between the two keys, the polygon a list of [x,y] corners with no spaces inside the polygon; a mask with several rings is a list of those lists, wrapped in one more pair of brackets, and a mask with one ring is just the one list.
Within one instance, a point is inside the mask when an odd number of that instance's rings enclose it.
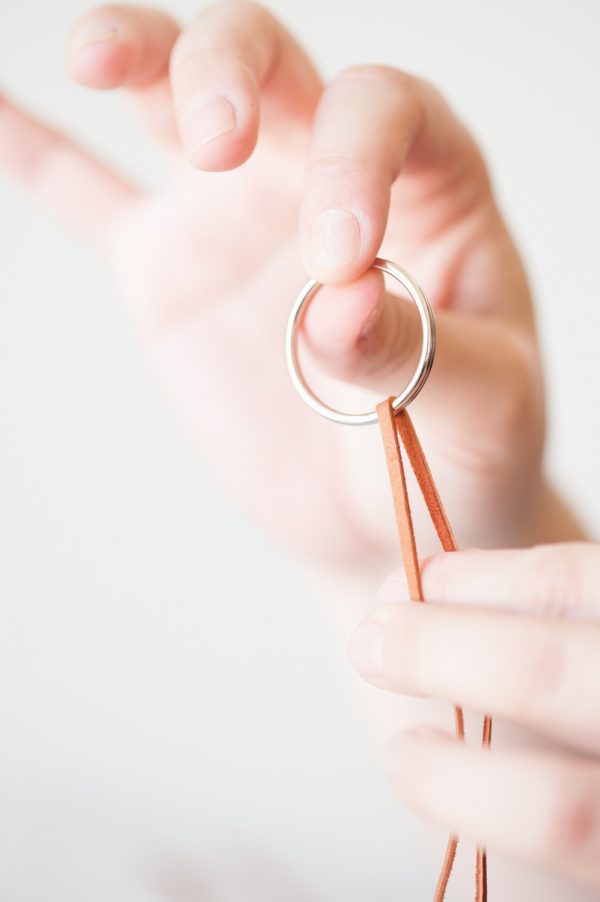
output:
{"label": "bent index finger pressing down on top of the metal ring", "polygon": [[[475,142],[431,85],[385,66],[348,69],[324,90],[311,139],[301,229],[314,278],[351,282],[371,265],[401,170],[429,211],[419,229],[439,230],[491,194]],[[425,244],[435,235],[414,237]]]}

